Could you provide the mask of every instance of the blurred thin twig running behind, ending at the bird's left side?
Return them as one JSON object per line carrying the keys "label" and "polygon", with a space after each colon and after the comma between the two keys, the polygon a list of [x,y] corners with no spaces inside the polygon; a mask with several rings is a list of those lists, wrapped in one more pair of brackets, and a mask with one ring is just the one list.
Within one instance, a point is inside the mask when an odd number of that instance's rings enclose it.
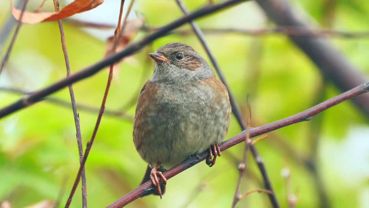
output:
{"label": "blurred thin twig running behind, ending at the bird's left side", "polygon": [[[23,95],[30,94],[30,92],[27,92],[27,91],[15,89],[15,88],[7,88],[7,87],[0,87],[0,91],[6,91],[6,92],[9,92],[9,93],[16,93],[16,94],[23,94]],[[50,103],[59,105],[61,107],[66,107],[66,108],[71,107],[70,102],[64,101],[64,100],[61,100],[61,99],[58,99],[58,98],[55,98],[55,97],[45,97],[45,98],[41,98],[41,100],[39,100],[39,101],[42,101],[42,100],[45,100],[45,101],[48,101]],[[86,111],[86,112],[89,112],[89,113],[98,113],[100,111],[100,108],[92,107],[92,106],[81,104],[81,103],[76,103],[76,106],[79,110]],[[120,118],[124,121],[129,121],[129,122],[133,121],[133,116],[127,114],[126,112],[124,112],[122,110],[105,110],[104,115],[108,115],[108,116],[111,116],[111,117],[117,117],[117,118]]]}

